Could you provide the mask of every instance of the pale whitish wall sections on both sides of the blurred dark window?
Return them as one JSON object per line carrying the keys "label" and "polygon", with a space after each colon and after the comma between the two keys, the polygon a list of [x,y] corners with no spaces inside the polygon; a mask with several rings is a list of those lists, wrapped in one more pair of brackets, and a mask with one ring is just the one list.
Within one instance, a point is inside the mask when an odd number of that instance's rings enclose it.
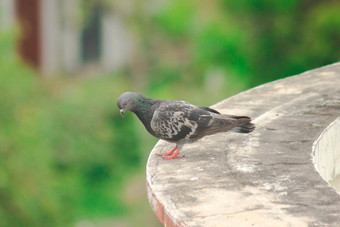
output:
{"label": "pale whitish wall sections on both sides of the blurred dark window", "polygon": [[[82,67],[78,7],[77,0],[41,0],[41,71],[44,75],[55,75],[58,71],[72,73]],[[98,59],[103,69],[116,70],[129,61],[132,39],[127,31],[117,15],[103,15],[102,55]]]}

